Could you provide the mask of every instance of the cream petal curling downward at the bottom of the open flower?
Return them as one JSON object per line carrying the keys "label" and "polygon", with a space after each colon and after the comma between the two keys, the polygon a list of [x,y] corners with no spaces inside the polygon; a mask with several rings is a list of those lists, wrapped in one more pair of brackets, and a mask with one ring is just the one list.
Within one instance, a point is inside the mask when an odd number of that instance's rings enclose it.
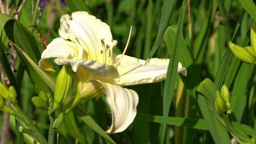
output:
{"label": "cream petal curling downward at the bottom of the open flower", "polygon": [[115,84],[100,83],[106,89],[106,100],[112,112],[112,125],[106,132],[111,134],[122,132],[136,116],[138,94],[134,90],[128,90]]}

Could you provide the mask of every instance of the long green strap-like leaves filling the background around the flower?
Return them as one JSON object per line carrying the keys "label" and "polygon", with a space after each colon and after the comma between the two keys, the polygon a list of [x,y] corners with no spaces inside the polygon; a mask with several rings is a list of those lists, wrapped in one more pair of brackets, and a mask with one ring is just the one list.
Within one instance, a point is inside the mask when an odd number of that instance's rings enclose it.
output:
{"label": "long green strap-like leaves filling the background around the flower", "polygon": [[[110,26],[113,39],[118,41],[113,49],[116,54],[124,50],[132,25],[126,55],[144,60],[170,58],[170,63],[164,82],[126,86],[138,93],[139,103],[134,122],[124,132],[104,132],[111,126],[112,116],[105,96],[101,96],[82,101],[63,116],[56,129],[58,142],[230,143],[235,134],[215,110],[216,91],[224,84],[231,92],[231,124],[255,141],[256,68],[236,58],[228,45],[251,45],[250,26],[256,20],[252,0],[65,0],[66,4],[62,0],[41,0],[46,2],[42,13],[33,11],[39,2],[27,0],[22,5],[22,0],[9,0],[8,7],[13,7],[10,14],[0,14],[0,69],[4,70],[1,82],[14,86],[18,104],[46,139],[51,123],[48,114],[36,108],[31,99],[41,91],[54,95],[61,66],[49,59],[55,72],[46,72],[38,62],[46,46],[59,37],[60,17],[87,11]],[[14,8],[21,5],[18,17],[14,16]],[[41,14],[37,27],[33,27]],[[24,51],[13,47],[17,52],[15,63],[10,61],[10,40]],[[187,76],[176,74],[178,61],[187,69]],[[72,78],[64,104],[76,92],[75,73]],[[45,95],[42,100],[49,98]],[[47,108],[44,104],[43,109]],[[4,114],[0,113],[0,126],[2,118]],[[18,131],[19,126],[11,116],[13,139],[8,142],[33,143],[30,136]]]}

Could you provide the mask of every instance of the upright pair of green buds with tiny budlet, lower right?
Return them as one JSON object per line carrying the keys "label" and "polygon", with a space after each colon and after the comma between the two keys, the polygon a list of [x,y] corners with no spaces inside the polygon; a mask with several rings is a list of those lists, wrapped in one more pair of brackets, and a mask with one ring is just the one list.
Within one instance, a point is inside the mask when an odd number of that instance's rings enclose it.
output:
{"label": "upright pair of green buds with tiny budlet, lower right", "polygon": [[219,114],[231,114],[230,92],[224,84],[221,91],[216,92],[215,109]]}

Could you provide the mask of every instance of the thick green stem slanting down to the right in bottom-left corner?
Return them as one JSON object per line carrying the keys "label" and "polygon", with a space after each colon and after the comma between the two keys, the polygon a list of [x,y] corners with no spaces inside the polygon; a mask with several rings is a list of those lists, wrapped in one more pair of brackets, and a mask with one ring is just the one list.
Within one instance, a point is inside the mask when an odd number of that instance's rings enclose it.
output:
{"label": "thick green stem slanting down to the right in bottom-left corner", "polygon": [[[24,112],[22,111],[22,109],[20,108],[20,106],[18,104],[11,104],[13,107],[16,108],[16,110],[18,111],[17,113],[12,113],[14,116],[16,116],[20,123],[21,126],[26,128],[26,132],[29,132],[29,135],[34,138],[37,142],[39,142],[40,144],[47,144],[47,140],[44,138],[44,136],[39,132],[39,130],[36,128],[36,126],[34,126],[34,124],[32,124],[32,122],[30,121],[30,119],[28,117],[26,117],[26,115],[24,114]],[[23,125],[25,124],[25,126]]]}

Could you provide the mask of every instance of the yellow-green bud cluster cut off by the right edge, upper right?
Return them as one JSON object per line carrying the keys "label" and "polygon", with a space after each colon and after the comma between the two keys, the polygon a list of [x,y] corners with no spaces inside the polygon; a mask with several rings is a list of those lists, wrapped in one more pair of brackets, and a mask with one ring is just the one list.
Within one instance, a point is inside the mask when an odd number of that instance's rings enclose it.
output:
{"label": "yellow-green bud cluster cut off by the right edge, upper right", "polygon": [[229,47],[233,54],[239,60],[248,64],[256,64],[256,22],[252,22],[251,26],[251,44],[252,46],[246,46],[245,48],[229,42]]}

